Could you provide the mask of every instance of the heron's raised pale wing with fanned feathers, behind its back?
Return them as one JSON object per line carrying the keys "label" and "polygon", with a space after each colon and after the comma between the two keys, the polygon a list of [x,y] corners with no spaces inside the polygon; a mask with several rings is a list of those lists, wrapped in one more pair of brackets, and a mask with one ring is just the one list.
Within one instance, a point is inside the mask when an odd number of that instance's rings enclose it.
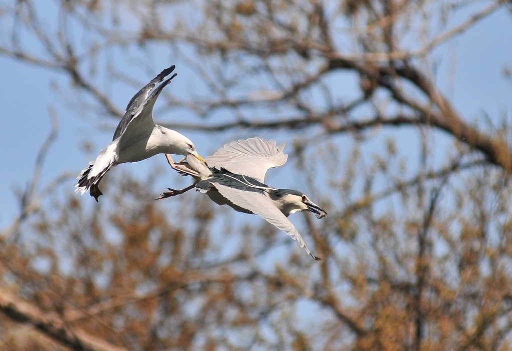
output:
{"label": "heron's raised pale wing with fanned feathers, behind its back", "polygon": [[283,153],[285,143],[275,145],[275,140],[267,141],[259,137],[233,141],[222,149],[206,157],[206,163],[217,169],[242,174],[265,182],[265,174],[270,168],[283,166],[288,155]]}

